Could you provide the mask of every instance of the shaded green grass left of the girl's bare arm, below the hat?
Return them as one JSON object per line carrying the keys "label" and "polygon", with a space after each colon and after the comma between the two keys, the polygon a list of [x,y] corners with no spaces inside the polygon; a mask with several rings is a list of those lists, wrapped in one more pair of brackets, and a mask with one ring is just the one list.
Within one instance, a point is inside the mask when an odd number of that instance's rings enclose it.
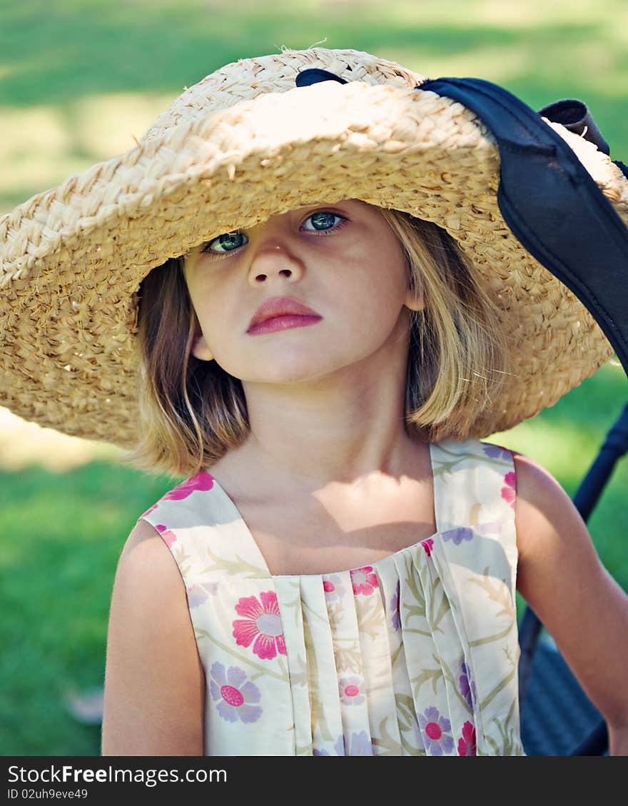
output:
{"label": "shaded green grass left of the girl's bare arm, below the hat", "polygon": [[108,463],[0,475],[0,753],[98,753],[64,696],[102,684],[115,564],[167,486]]}

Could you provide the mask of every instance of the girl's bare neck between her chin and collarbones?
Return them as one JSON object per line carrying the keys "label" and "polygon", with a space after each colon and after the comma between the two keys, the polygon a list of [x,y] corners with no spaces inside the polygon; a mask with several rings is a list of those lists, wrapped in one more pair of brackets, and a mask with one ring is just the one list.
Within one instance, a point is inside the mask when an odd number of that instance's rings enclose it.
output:
{"label": "girl's bare neck between her chin and collarbones", "polygon": [[405,426],[407,356],[384,358],[387,366],[377,368],[371,356],[368,372],[351,364],[307,383],[243,384],[251,430],[227,454],[239,477],[254,473],[255,487],[268,488],[263,494],[285,495],[332,483],[359,492],[408,472],[421,440]]}

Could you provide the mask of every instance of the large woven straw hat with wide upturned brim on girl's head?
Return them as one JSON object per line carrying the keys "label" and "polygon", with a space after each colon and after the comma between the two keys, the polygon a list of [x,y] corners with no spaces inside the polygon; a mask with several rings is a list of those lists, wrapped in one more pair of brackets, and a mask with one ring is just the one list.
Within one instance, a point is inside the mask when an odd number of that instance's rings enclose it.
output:
{"label": "large woven straw hat with wide upturned brim on girl's head", "polygon": [[[345,83],[295,85],[305,69]],[[223,232],[342,198],[442,226],[502,311],[514,376],[469,436],[514,426],[593,375],[613,348],[505,225],[493,136],[422,81],[351,50],[239,60],[186,89],[130,151],[0,218],[0,405],[132,447],[143,277]],[[628,223],[619,168],[551,125]]]}

